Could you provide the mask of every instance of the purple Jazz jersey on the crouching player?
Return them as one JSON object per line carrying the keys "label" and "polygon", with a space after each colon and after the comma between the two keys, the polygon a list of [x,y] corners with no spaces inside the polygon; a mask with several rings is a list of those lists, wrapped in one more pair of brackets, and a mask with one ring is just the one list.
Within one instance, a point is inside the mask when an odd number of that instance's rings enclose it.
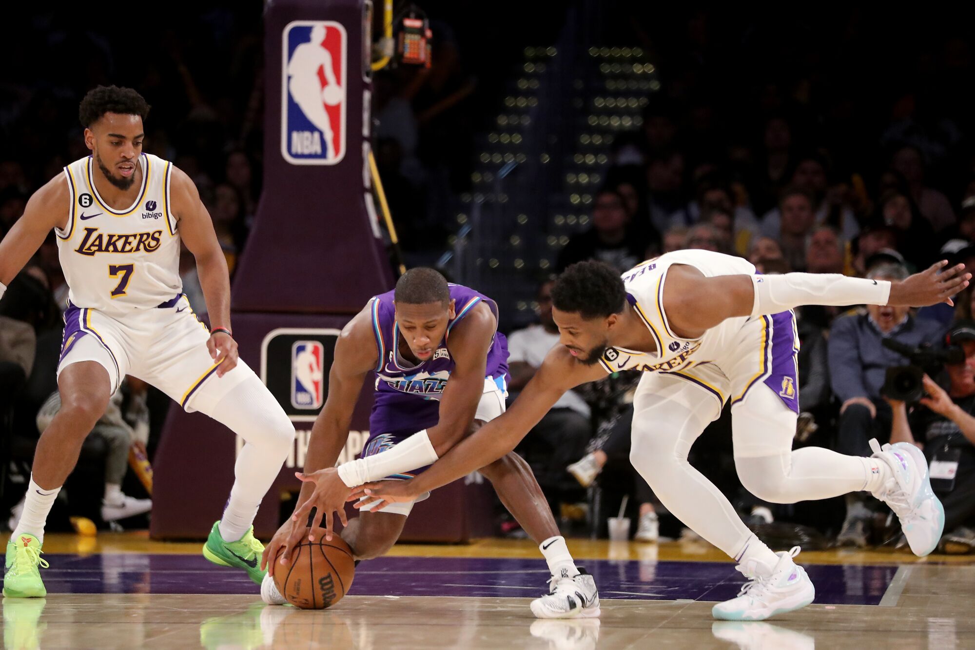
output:
{"label": "purple Jazz jersey on the crouching player", "polygon": [[[459,284],[451,284],[449,288],[455,316],[433,356],[415,366],[409,365],[400,354],[400,331],[396,323],[393,292],[372,299],[372,334],[379,354],[375,367],[370,439],[392,432],[403,434],[409,431],[409,435],[436,425],[440,419],[440,396],[454,368],[447,347],[450,330],[478,303],[484,302],[497,316],[497,305],[487,296]],[[485,374],[487,379],[504,390],[508,374],[508,342],[503,334],[494,334],[494,340],[487,350]]]}

